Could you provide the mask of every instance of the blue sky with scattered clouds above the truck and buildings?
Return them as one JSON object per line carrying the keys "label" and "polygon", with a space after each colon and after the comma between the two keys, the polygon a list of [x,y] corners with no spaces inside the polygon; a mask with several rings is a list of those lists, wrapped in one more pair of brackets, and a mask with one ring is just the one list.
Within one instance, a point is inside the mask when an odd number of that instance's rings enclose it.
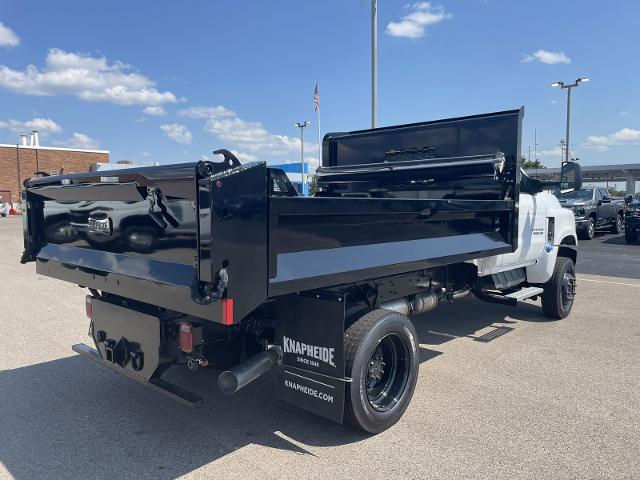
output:
{"label": "blue sky with scattered clouds above the truck and buildings", "polygon": [[[584,164],[640,162],[640,2],[379,0],[379,124],[525,106],[523,154],[556,166],[566,92]],[[112,160],[297,161],[293,122],[370,123],[360,0],[0,0],[0,143],[104,148]],[[305,142],[305,145],[307,142]],[[315,148],[315,151],[314,151]]]}

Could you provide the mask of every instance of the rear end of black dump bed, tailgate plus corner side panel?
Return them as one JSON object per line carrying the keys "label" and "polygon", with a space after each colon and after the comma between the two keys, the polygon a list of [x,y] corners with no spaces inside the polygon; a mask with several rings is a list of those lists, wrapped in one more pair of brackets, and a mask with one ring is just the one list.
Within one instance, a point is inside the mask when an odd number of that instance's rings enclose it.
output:
{"label": "rear end of black dump bed, tailgate plus corner side panel", "polygon": [[227,324],[266,298],[264,163],[199,162],[25,185],[22,261],[35,260],[42,275]]}

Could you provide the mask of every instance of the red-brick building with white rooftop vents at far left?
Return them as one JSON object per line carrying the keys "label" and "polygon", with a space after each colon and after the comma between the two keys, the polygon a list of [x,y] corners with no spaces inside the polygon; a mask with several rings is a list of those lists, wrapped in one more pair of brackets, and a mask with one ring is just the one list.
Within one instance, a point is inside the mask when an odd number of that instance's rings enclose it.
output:
{"label": "red-brick building with white rooftop vents at far left", "polygon": [[20,202],[22,182],[37,172],[49,175],[88,172],[93,165],[108,162],[108,150],[43,147],[38,132],[34,131],[29,144],[26,135],[19,144],[0,144],[0,197],[3,202]]}

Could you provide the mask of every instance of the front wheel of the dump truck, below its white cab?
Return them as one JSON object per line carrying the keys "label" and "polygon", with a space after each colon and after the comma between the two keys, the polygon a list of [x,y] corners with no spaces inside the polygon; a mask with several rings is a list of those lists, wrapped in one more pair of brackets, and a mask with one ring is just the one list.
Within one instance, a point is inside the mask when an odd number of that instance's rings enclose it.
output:
{"label": "front wheel of the dump truck, below its white cab", "polygon": [[560,320],[571,312],[575,297],[576,269],[573,260],[556,258],[551,279],[544,284],[542,310],[549,318]]}

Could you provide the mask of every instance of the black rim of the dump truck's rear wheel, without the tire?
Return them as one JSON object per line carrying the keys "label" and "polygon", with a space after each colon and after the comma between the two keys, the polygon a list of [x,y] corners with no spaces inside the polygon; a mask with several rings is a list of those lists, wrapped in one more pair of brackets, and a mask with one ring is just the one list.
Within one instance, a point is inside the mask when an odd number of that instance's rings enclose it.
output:
{"label": "black rim of the dump truck's rear wheel, without the tire", "polygon": [[379,412],[391,410],[400,402],[409,379],[409,349],[404,340],[389,334],[374,348],[367,370],[367,399]]}

